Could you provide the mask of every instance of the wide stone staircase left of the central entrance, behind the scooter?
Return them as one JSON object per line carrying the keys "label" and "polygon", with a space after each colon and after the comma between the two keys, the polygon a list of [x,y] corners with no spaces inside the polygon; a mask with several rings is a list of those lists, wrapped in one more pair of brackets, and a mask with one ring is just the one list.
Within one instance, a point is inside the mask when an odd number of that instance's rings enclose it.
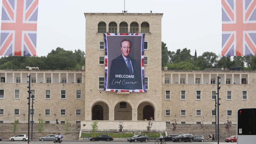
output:
{"label": "wide stone staircase left of the central entrance, behind the scooter", "polygon": [[[80,124],[72,124],[69,132],[64,131],[62,124],[44,124],[44,131],[38,133],[37,129],[38,124],[33,124],[33,135],[31,135],[31,124],[30,124],[30,139],[33,136],[33,140],[39,140],[39,137],[47,136],[50,134],[57,135],[62,133],[63,140],[78,140],[80,132]],[[7,140],[12,136],[24,134],[28,135],[28,124],[18,124],[18,132],[12,132],[12,124],[0,124],[0,137],[3,140]]]}

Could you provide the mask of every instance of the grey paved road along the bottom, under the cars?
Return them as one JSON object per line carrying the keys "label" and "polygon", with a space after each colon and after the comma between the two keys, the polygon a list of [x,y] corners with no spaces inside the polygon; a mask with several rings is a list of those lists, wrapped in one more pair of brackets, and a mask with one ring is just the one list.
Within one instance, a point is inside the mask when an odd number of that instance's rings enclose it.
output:
{"label": "grey paved road along the bottom, under the cars", "polygon": [[[0,144],[27,144],[28,141],[0,141]],[[30,141],[30,144],[53,144],[53,141]],[[145,142],[141,143],[144,144]],[[179,143],[179,142],[178,142]],[[184,143],[184,142],[182,142]],[[189,144],[190,142],[186,142],[186,144]],[[58,144],[58,143],[56,143]],[[127,141],[83,141],[83,140],[77,140],[77,141],[63,141],[61,144],[134,144],[134,142],[130,143]],[[140,142],[139,142],[140,144]],[[155,144],[155,142],[150,141],[147,144]],[[166,142],[166,144],[177,144],[177,142]],[[218,144],[218,142],[193,142],[191,144]],[[220,142],[219,144],[227,144],[226,142]],[[236,144],[236,142],[232,143]]]}

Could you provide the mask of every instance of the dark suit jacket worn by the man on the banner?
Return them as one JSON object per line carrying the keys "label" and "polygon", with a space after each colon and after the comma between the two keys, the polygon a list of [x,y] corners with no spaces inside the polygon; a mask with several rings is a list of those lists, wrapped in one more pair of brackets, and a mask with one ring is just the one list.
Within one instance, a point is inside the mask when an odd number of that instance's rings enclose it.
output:
{"label": "dark suit jacket worn by the man on the banner", "polygon": [[[142,89],[141,68],[137,68],[134,58],[129,57],[133,66],[134,78],[118,78],[116,75],[130,75],[129,69],[122,55],[115,58],[111,62],[110,73],[108,79],[109,89],[135,90]],[[127,83],[128,82],[128,83]]]}

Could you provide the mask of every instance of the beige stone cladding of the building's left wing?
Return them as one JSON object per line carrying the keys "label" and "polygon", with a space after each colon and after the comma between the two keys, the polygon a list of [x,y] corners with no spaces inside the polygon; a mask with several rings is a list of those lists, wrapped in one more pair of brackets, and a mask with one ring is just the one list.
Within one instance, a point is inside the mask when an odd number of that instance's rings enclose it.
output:
{"label": "beige stone cladding of the building's left wing", "polygon": [[[1,74],[10,74],[15,72],[18,75],[25,71],[23,70],[15,70],[15,71],[1,71]],[[22,74],[23,79],[26,79],[28,73],[34,75],[35,73],[45,73],[45,75],[51,73],[59,73],[64,74],[65,76],[67,73],[70,76],[74,75],[74,71],[27,71]],[[83,73],[83,74],[82,74]],[[84,75],[84,71],[80,71],[79,75]],[[38,74],[39,75],[39,74]],[[76,74],[78,75],[78,74]],[[3,75],[1,75],[2,77]],[[79,77],[80,77],[79,76]],[[19,119],[20,123],[28,123],[28,102],[27,99],[29,96],[28,93],[28,86],[29,83],[8,83],[7,79],[10,77],[6,77],[5,82],[0,83],[0,90],[4,90],[4,99],[0,99],[0,109],[4,109],[4,115],[0,115],[0,121],[4,123],[12,123],[14,119]],[[12,79],[12,78],[11,78]],[[40,76],[37,79],[42,79]],[[84,80],[82,80],[84,81]],[[15,81],[16,82],[16,81]],[[57,118],[59,123],[61,121],[69,120],[72,123],[76,123],[76,121],[84,120],[84,82],[82,83],[31,83],[31,90],[35,92],[35,99],[33,100],[33,109],[34,109],[34,116],[33,121],[38,123],[38,118],[42,118],[45,121],[50,121],[50,123],[55,123],[55,119]],[[19,90],[19,96],[16,96],[15,99],[15,90]],[[46,99],[46,90],[50,90],[50,99]],[[61,99],[61,90],[66,91],[66,99]],[[76,99],[76,90],[81,90],[81,99]],[[30,100],[30,109],[32,109],[32,99]],[[19,114],[14,115],[14,109],[19,109]],[[49,115],[45,115],[45,110],[50,109]],[[60,116],[61,109],[65,109],[66,113],[63,116]],[[81,115],[76,114],[76,110],[81,110]],[[30,116],[30,120],[32,117]]]}

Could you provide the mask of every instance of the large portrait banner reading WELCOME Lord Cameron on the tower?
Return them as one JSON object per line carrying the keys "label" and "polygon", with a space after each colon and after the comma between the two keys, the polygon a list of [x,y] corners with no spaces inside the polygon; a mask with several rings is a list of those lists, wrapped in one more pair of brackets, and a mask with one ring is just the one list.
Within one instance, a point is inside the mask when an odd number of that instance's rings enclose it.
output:
{"label": "large portrait banner reading WELCOME Lord Cameron on the tower", "polygon": [[146,92],[144,36],[138,33],[104,33],[105,91]]}

